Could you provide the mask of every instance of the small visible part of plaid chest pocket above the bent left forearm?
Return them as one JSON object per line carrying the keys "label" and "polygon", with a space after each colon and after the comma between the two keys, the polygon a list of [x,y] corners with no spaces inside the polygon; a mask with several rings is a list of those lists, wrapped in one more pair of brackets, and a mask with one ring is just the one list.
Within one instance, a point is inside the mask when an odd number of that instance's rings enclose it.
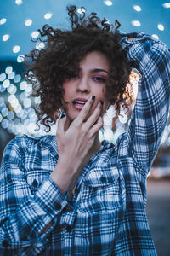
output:
{"label": "small visible part of plaid chest pocket above the bent left forearm", "polygon": [[34,194],[42,183],[49,177],[50,172],[46,170],[32,170],[26,174],[26,182],[30,186],[31,194]]}

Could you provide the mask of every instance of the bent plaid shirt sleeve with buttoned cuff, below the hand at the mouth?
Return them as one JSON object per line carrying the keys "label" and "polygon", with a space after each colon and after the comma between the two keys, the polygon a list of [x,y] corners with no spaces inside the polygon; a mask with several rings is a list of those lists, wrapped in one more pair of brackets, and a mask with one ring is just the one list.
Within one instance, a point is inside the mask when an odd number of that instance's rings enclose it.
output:
{"label": "bent plaid shirt sleeve with buttoned cuff, below the hand at the mouth", "polygon": [[[25,145],[26,146],[26,145]],[[0,250],[45,244],[59,214],[67,204],[55,183],[47,177],[34,195],[26,183],[24,152],[15,139],[8,143],[0,171]],[[42,236],[42,230],[53,221]]]}

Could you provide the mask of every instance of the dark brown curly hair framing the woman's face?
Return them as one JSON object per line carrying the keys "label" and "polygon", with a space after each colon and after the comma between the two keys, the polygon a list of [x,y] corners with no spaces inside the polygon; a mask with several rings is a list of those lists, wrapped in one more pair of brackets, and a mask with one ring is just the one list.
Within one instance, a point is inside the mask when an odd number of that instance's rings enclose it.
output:
{"label": "dark brown curly hair framing the woman's face", "polygon": [[116,20],[115,26],[110,25],[94,12],[87,17],[84,8],[82,14],[77,14],[74,5],[68,6],[67,10],[71,29],[64,31],[44,25],[42,30],[38,30],[41,37],[36,42],[43,42],[45,47],[33,49],[25,59],[25,64],[29,65],[26,79],[34,91],[32,96],[41,98],[37,106],[37,124],[40,121],[48,131],[59,118],[60,109],[64,109],[63,82],[78,70],[80,61],[89,52],[99,51],[110,61],[111,73],[105,92],[110,105],[116,103],[119,112],[120,104],[127,108],[127,98],[130,98],[126,85],[131,68],[127,63],[127,53],[119,43],[120,23]]}

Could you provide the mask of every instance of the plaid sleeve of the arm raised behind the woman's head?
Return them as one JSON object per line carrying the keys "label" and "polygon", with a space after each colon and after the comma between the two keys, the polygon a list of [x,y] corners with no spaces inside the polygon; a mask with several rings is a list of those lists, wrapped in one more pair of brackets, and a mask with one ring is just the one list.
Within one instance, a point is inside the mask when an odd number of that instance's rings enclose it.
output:
{"label": "plaid sleeve of the arm raised behind the woman's head", "polygon": [[[128,39],[132,38],[132,39]],[[139,70],[139,91],[122,152],[149,172],[167,123],[170,95],[170,54],[150,36],[129,34],[122,39],[128,61]]]}

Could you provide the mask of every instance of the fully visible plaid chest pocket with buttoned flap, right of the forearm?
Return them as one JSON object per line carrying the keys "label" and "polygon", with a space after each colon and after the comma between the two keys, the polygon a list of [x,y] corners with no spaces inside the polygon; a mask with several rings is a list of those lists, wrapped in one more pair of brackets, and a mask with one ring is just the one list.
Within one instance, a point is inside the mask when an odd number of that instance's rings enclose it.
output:
{"label": "fully visible plaid chest pocket with buttoned flap, right of the forearm", "polygon": [[94,168],[84,178],[78,196],[77,207],[80,212],[113,213],[121,207],[119,174],[116,166],[104,169]]}

